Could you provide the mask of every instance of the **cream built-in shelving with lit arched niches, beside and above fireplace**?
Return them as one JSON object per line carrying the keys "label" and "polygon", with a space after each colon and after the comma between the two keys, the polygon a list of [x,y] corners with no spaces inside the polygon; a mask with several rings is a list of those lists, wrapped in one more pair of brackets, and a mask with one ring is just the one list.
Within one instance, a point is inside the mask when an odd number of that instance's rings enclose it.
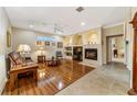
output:
{"label": "cream built-in shelving with lit arched niches, beside and above fireplace", "polygon": [[[74,58],[74,50],[82,47],[82,55],[84,55],[85,47],[95,47],[102,45],[101,27],[88,30],[75,35],[65,36],[64,38],[64,55],[65,58]],[[74,49],[73,49],[74,48]],[[83,57],[84,58],[84,57]],[[80,58],[81,59],[81,58]]]}

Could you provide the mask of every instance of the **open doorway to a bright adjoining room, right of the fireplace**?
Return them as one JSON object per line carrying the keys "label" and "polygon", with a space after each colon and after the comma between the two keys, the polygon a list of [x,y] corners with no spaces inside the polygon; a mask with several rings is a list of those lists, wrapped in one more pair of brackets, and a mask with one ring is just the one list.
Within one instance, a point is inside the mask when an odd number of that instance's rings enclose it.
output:
{"label": "open doorway to a bright adjoining room, right of the fireplace", "polygon": [[107,36],[107,63],[122,63],[124,64],[125,45],[124,35]]}

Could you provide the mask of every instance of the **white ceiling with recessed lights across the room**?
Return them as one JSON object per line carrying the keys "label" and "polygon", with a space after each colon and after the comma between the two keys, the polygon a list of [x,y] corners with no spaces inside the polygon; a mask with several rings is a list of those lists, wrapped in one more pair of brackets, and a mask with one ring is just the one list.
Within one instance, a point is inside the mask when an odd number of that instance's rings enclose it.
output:
{"label": "white ceiling with recessed lights across the room", "polygon": [[[12,26],[54,33],[54,25],[63,35],[75,34],[92,27],[124,22],[126,8],[122,7],[7,7]],[[81,22],[85,22],[82,26]],[[29,25],[34,27],[31,29]]]}

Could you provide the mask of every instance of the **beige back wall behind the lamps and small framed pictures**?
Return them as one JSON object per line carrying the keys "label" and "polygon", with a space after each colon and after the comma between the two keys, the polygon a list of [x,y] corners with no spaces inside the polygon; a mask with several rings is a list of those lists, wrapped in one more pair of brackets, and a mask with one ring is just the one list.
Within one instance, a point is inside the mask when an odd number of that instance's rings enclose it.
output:
{"label": "beige back wall behind the lamps and small framed pictures", "polygon": [[[36,56],[40,55],[40,47],[36,46],[36,37],[38,36],[52,36],[55,38],[54,42],[63,42],[62,36],[55,36],[46,33],[39,33],[39,32],[33,32],[33,31],[28,31],[28,30],[22,30],[22,29],[13,29],[12,30],[12,41],[13,41],[13,50],[17,50],[20,44],[29,44],[31,47],[31,57],[34,61],[36,61]],[[45,47],[45,56],[52,57],[55,56],[55,52],[61,50],[63,52],[63,48],[57,48],[57,45],[55,47],[50,46]]]}

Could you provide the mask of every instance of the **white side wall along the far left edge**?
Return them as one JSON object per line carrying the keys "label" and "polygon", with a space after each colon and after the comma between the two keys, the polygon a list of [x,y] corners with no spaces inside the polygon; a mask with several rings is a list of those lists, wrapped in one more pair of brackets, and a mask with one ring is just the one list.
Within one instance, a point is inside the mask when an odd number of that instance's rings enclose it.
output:
{"label": "white side wall along the far left edge", "polygon": [[0,8],[0,94],[4,88],[6,76],[6,55],[11,52],[7,48],[7,31],[10,27],[9,19],[3,8]]}

